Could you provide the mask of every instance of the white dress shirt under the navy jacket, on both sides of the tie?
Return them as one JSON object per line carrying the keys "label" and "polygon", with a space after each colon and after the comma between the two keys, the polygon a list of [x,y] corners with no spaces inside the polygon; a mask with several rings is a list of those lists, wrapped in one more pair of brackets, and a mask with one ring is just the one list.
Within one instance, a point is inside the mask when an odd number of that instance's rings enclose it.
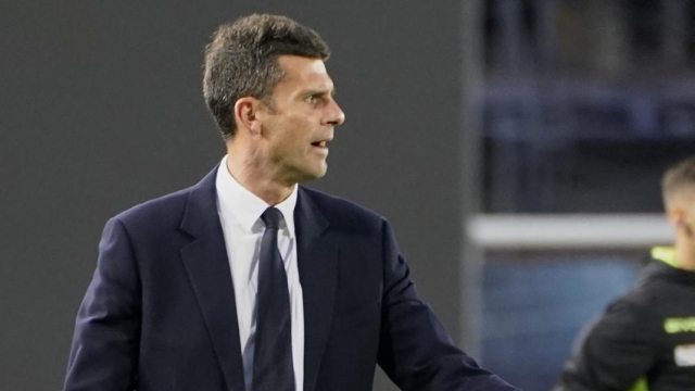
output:
{"label": "white dress shirt under the navy jacket, on both sides of the tie", "polygon": [[[227,169],[227,156],[222,160],[216,179],[217,212],[225,235],[231,279],[235,287],[239,339],[243,360],[247,391],[253,379],[253,353],[256,331],[256,287],[258,281],[258,250],[265,224],[261,215],[269,206],[241,186]],[[296,185],[292,193],[275,205],[283,220],[278,231],[278,249],[285,263],[290,290],[292,321],[292,364],[295,390],[304,389],[304,304],[296,264],[294,236],[294,205]]]}

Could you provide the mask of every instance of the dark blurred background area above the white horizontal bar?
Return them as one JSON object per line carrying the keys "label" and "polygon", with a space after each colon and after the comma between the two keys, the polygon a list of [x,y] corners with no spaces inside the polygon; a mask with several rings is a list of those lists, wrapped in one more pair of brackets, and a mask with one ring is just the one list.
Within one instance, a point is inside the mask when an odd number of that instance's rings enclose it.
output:
{"label": "dark blurred background area above the white horizontal bar", "polygon": [[695,3],[484,4],[484,210],[659,212],[695,147]]}

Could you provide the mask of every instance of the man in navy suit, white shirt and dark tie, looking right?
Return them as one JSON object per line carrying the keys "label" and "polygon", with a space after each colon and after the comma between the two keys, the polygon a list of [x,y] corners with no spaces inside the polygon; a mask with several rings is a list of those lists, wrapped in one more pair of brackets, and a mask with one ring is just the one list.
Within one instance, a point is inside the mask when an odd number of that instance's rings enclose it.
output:
{"label": "man in navy suit, white shirt and dark tie, looking right", "polygon": [[383,217],[298,186],[344,114],[328,47],[282,16],[222,26],[204,96],[228,154],[104,228],[65,390],[515,390],[418,298]]}

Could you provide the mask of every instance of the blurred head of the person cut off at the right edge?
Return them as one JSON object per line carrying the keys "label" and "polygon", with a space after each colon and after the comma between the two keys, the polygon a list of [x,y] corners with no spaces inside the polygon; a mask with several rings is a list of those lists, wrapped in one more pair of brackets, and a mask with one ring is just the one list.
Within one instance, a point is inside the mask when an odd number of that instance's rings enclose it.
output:
{"label": "blurred head of the person cut off at the right edge", "polygon": [[677,235],[695,241],[695,157],[667,169],[661,178],[666,213]]}

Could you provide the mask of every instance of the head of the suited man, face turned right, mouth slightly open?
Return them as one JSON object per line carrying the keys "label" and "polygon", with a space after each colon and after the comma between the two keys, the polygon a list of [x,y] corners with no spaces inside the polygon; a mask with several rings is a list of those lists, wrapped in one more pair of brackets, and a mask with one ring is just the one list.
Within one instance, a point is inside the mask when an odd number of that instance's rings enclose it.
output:
{"label": "head of the suited man, face turned right, mouth slightly open", "polygon": [[326,143],[344,121],[328,55],[318,34],[283,16],[245,16],[214,35],[205,101],[245,186],[287,188],[326,174]]}

